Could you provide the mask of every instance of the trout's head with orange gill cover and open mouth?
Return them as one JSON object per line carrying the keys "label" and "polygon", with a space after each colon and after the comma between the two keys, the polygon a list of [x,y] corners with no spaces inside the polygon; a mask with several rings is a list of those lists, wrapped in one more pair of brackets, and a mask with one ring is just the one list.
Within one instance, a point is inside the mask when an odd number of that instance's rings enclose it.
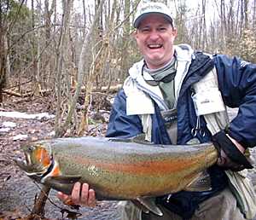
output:
{"label": "trout's head with orange gill cover and open mouth", "polygon": [[24,159],[15,159],[16,165],[26,172],[26,175],[40,182],[41,177],[49,170],[52,156],[49,146],[44,142],[33,142],[21,147]]}

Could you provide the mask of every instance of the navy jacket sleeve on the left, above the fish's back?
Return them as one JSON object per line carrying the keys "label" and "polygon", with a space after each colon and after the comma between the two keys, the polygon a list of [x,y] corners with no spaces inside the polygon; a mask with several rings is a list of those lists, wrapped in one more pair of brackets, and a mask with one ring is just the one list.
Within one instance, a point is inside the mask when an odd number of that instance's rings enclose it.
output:
{"label": "navy jacket sleeve on the left, above the fish's back", "polygon": [[142,121],[137,115],[126,115],[126,96],[120,90],[113,101],[107,137],[129,138],[143,133]]}

